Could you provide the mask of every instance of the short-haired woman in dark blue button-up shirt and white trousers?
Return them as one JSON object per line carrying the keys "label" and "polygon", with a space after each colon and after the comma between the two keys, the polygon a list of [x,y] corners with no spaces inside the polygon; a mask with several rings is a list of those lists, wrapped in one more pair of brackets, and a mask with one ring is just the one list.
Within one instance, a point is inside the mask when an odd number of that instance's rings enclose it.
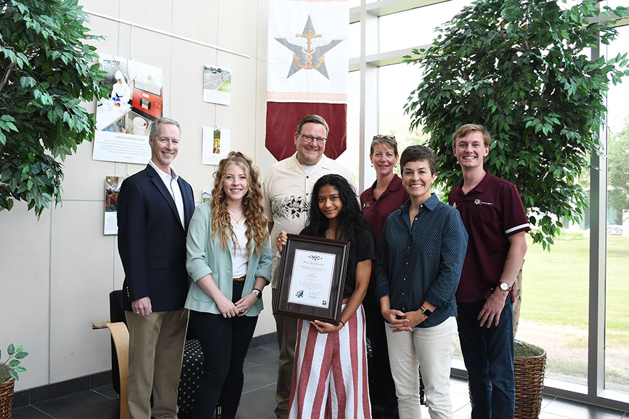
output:
{"label": "short-haired woman in dark blue button-up shirt and white trousers", "polygon": [[419,365],[431,418],[451,418],[449,374],[456,340],[454,293],[468,244],[458,211],[431,186],[436,157],[423,145],[400,159],[408,200],[384,224],[376,288],[386,325],[401,419],[419,418]]}

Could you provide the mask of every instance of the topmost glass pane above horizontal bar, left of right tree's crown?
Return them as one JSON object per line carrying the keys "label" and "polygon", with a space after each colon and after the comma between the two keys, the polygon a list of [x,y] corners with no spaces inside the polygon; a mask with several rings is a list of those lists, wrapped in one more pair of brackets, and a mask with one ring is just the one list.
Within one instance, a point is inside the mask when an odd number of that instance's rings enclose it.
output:
{"label": "topmost glass pane above horizontal bar, left of right tree's crown", "polygon": [[471,0],[451,0],[380,17],[380,52],[432,43],[435,27],[450,20],[470,3]]}

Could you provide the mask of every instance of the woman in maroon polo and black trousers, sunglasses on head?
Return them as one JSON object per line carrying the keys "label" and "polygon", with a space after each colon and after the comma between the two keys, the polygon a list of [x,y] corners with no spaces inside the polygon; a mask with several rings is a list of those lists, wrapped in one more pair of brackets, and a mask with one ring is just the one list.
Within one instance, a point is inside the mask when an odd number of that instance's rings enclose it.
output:
{"label": "woman in maroon polo and black trousers, sunglasses on head", "polygon": [[[398,143],[394,135],[375,135],[369,153],[371,166],[376,171],[376,181],[361,193],[361,207],[367,221],[373,228],[376,256],[380,247],[380,238],[384,221],[391,212],[398,210],[408,199],[408,193],[402,186],[402,179],[393,174],[398,166]],[[374,265],[375,266],[375,265]],[[363,300],[366,317],[366,333],[370,340],[373,359],[369,375],[372,383],[378,383],[379,391],[373,395],[373,411],[380,412],[385,418],[398,418],[398,398],[395,383],[389,367],[389,351],[386,348],[384,318],[380,314],[380,305],[373,297],[375,277],[372,271],[367,295]]]}

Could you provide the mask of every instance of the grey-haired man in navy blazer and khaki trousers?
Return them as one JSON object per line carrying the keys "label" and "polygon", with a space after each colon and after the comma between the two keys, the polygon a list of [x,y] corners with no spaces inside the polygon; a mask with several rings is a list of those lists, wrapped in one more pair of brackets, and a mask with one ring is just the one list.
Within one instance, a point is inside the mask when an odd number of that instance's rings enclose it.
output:
{"label": "grey-haired man in navy blazer and khaki trousers", "polygon": [[[152,122],[151,161],[145,170],[122,182],[118,197],[131,418],[177,417],[188,323],[188,311],[183,308],[189,284],[186,235],[194,212],[190,185],[171,168],[179,151],[180,134],[174,119]],[[159,370],[154,374],[156,365]]]}

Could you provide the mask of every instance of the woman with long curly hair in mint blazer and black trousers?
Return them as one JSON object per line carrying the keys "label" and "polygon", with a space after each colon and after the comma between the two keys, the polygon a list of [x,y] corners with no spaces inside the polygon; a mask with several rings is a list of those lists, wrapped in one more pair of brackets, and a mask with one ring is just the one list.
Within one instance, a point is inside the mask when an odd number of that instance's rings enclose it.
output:
{"label": "woman with long curly hair in mint blazer and black trousers", "polygon": [[243,362],[262,311],[272,256],[259,170],[240,152],[219,163],[212,199],[196,207],[187,238],[194,281],[185,307],[203,348],[195,418],[234,418],[243,392]]}

